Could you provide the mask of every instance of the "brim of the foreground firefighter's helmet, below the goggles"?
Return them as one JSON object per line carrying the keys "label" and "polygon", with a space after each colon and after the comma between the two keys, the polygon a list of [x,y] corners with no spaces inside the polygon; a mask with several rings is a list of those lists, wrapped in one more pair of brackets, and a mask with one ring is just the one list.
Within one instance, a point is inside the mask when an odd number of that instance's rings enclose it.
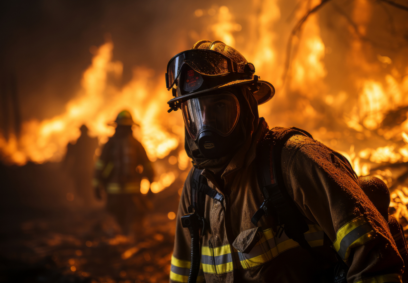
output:
{"label": "brim of the foreground firefighter's helmet, below the goggles", "polygon": [[[237,81],[231,81],[229,83],[225,83],[222,85],[217,85],[212,88],[207,88],[205,90],[200,90],[197,92],[189,92],[188,94],[184,94],[179,97],[175,97],[167,102],[167,104],[171,105],[175,102],[182,103],[184,101],[187,101],[188,99],[192,99],[195,97],[200,97],[202,95],[205,95],[206,92],[211,92],[214,90],[220,90],[223,88],[230,88],[232,86],[238,86],[238,85],[251,85],[254,83],[253,79],[247,79],[247,80],[237,80]],[[269,101],[274,95],[275,95],[275,88],[273,85],[267,81],[262,81],[258,80],[257,84],[259,86],[258,91],[253,93],[253,96],[258,102],[258,105],[261,105],[267,101]]]}

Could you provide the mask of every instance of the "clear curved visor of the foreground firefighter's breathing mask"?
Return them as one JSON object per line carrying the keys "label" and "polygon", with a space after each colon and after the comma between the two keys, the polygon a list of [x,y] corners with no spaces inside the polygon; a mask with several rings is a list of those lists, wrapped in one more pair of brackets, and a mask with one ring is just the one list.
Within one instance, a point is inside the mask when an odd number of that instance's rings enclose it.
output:
{"label": "clear curved visor of the foreground firefighter's breathing mask", "polygon": [[238,99],[227,91],[196,97],[181,103],[184,123],[193,140],[204,130],[226,137],[239,118]]}

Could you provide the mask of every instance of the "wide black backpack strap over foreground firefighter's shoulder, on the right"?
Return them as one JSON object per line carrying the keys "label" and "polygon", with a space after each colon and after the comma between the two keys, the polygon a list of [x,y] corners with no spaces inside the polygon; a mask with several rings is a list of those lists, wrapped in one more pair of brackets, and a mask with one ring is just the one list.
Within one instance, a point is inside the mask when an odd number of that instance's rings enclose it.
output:
{"label": "wide black backpack strap over foreground firefighter's shoulder, on the right", "polygon": [[310,134],[306,135],[297,129],[288,129],[282,135],[276,139],[271,137],[271,132],[268,132],[258,144],[256,160],[258,182],[264,195],[264,202],[252,217],[251,222],[257,225],[263,215],[273,215],[278,221],[277,236],[279,238],[285,231],[288,238],[310,250],[311,247],[304,238],[304,233],[309,230],[309,227],[285,188],[280,162],[282,148],[290,137],[293,135],[310,136]]}

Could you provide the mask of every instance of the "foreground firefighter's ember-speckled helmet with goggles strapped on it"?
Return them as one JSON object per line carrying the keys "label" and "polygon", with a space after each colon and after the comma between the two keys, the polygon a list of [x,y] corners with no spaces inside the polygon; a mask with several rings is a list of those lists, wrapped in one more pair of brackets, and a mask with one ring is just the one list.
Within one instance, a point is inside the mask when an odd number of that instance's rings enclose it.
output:
{"label": "foreground firefighter's ember-speckled helmet with goggles strapped on it", "polygon": [[271,83],[255,75],[252,63],[219,40],[200,40],[192,49],[171,58],[167,65],[166,86],[168,90],[173,88],[175,97],[167,102],[171,110],[177,110],[182,102],[206,95],[206,92],[236,85],[248,85],[258,105],[275,94]]}

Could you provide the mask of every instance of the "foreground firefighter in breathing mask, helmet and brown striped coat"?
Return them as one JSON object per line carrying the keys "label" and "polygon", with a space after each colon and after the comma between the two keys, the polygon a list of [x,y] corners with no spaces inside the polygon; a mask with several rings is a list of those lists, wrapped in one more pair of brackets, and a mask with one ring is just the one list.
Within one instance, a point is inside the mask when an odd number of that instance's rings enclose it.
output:
{"label": "foreground firefighter in breathing mask, helmet and brown striped coat", "polygon": [[[271,83],[221,41],[174,56],[166,86],[193,162],[170,282],[400,282],[388,223],[347,159],[297,128],[268,128]],[[404,241],[405,242],[405,241]]]}

